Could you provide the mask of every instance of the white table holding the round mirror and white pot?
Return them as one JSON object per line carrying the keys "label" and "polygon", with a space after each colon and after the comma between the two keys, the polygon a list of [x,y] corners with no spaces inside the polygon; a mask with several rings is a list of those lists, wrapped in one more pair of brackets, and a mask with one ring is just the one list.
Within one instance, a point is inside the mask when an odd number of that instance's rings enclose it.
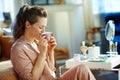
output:
{"label": "white table holding the round mirror and white pot", "polygon": [[65,61],[65,67],[71,68],[79,64],[86,64],[90,68],[102,68],[106,70],[117,70],[118,71],[118,79],[120,80],[120,70],[115,69],[117,65],[120,64],[120,55],[114,57],[107,57],[107,55],[100,55],[100,57],[105,57],[104,60],[100,61],[91,61],[89,58],[86,60],[75,61],[73,58]]}

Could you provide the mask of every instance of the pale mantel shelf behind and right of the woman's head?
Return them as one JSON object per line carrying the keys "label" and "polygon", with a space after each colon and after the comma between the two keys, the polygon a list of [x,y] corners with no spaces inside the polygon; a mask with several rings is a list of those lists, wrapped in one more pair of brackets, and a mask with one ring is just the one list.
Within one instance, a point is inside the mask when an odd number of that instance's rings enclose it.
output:
{"label": "pale mantel shelf behind and right of the woman's head", "polygon": [[81,6],[81,4],[70,4],[70,5],[42,5],[48,12],[50,11],[71,11]]}

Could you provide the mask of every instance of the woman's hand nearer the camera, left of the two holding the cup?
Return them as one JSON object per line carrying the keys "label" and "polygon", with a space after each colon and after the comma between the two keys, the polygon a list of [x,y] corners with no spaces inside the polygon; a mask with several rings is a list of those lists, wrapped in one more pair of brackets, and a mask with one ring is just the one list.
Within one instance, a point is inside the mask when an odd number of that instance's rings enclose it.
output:
{"label": "woman's hand nearer the camera, left of the two holding the cup", "polygon": [[45,39],[45,36],[40,36],[38,39],[38,48],[41,54],[47,53],[48,41]]}

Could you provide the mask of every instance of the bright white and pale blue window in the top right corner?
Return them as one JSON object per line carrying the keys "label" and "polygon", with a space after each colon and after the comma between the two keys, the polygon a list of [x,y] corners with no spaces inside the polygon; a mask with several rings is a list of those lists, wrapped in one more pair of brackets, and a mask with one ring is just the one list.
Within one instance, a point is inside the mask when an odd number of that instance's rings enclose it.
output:
{"label": "bright white and pale blue window in the top right corner", "polygon": [[119,12],[119,0],[92,0],[93,13]]}

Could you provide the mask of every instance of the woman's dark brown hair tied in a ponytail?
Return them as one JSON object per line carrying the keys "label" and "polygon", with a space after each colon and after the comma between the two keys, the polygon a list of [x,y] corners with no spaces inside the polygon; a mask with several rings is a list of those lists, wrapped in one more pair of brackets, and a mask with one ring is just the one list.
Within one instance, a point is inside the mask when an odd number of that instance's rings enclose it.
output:
{"label": "woman's dark brown hair tied in a ponytail", "polygon": [[29,23],[33,25],[37,22],[38,17],[47,17],[47,12],[44,8],[40,6],[30,7],[29,5],[24,5],[21,7],[12,27],[14,40],[17,40],[24,34],[26,21],[29,21]]}

